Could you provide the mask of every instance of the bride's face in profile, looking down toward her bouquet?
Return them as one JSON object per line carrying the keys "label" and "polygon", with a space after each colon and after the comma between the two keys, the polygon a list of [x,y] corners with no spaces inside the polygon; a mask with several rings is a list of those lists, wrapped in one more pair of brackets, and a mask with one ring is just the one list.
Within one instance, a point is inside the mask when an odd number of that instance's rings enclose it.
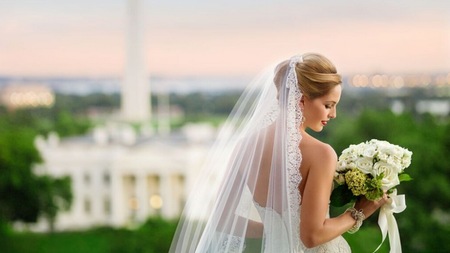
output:
{"label": "bride's face in profile, looking down toward her bouquet", "polygon": [[336,118],[336,105],[341,99],[341,92],[341,85],[336,85],[323,97],[309,100],[303,96],[300,107],[303,109],[306,121],[302,128],[309,127],[315,132],[322,131],[330,119]]}

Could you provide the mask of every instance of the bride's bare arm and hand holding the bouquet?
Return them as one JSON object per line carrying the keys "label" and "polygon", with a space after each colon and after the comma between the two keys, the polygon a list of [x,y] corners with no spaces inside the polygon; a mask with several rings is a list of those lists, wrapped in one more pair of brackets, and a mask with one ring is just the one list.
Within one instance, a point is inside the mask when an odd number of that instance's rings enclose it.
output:
{"label": "bride's bare arm and hand holding the bouquet", "polygon": [[[330,146],[322,145],[318,147],[318,152],[311,155],[311,167],[302,196],[300,223],[300,237],[308,248],[328,242],[356,224],[350,212],[326,219],[337,164],[336,152]],[[378,202],[362,200],[355,207],[358,210],[363,209],[368,217],[384,202],[385,199]]]}

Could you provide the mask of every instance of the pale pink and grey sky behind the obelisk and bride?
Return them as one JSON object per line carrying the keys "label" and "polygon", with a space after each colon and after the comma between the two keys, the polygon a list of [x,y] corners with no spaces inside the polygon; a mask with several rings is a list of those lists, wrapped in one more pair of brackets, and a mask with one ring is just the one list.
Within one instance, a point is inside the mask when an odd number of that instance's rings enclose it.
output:
{"label": "pale pink and grey sky behind the obelisk and bride", "polygon": [[[0,76],[121,76],[126,0],[0,0]],[[342,74],[450,71],[450,1],[144,0],[152,76],[254,76],[294,54]]]}

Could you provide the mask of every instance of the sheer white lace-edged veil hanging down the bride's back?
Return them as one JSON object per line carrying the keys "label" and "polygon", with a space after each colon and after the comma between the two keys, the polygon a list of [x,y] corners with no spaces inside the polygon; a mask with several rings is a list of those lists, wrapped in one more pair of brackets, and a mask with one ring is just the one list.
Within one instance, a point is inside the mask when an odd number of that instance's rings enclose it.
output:
{"label": "sheer white lace-edged veil hanging down the bride's back", "polygon": [[189,194],[170,252],[302,252],[300,55],[247,87]]}

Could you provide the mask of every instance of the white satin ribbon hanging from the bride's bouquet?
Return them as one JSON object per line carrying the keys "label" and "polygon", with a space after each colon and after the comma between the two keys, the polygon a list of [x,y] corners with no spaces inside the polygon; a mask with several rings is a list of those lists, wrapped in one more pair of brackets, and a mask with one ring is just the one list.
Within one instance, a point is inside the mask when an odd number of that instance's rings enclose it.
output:
{"label": "white satin ribbon hanging from the bride's bouquet", "polygon": [[378,216],[378,225],[380,226],[383,239],[378,248],[374,251],[380,249],[381,245],[386,239],[387,233],[389,233],[389,246],[391,250],[390,253],[402,252],[402,245],[400,243],[400,234],[398,232],[397,221],[395,220],[394,213],[401,213],[406,209],[405,195],[398,195],[397,190],[389,195],[387,202],[381,206],[380,215]]}

